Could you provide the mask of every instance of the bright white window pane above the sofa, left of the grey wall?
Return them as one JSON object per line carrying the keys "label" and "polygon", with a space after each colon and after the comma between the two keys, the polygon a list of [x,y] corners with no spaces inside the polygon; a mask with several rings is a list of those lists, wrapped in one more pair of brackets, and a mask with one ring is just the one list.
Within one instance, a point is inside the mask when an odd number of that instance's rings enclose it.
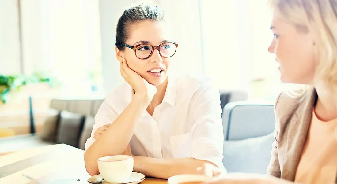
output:
{"label": "bright white window pane above the sofa, left of the grey wall", "polygon": [[70,96],[86,96],[100,87],[98,1],[41,1],[41,25],[44,66],[34,70],[53,72]]}

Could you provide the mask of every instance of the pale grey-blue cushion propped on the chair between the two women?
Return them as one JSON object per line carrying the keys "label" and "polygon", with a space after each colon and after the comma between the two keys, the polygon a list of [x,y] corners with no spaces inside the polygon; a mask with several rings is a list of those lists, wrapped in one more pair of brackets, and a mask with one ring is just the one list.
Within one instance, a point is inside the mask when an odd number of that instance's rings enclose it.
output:
{"label": "pale grey-blue cushion propped on the chair between the two women", "polygon": [[224,141],[223,165],[227,172],[266,174],[274,133],[240,141]]}

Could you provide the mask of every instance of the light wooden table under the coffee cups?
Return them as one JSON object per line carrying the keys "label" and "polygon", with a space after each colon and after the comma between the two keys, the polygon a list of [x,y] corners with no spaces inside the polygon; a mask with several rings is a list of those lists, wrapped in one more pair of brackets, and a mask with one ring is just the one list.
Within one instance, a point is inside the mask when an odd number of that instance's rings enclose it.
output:
{"label": "light wooden table under the coffee cups", "polygon": [[[0,156],[1,184],[88,184],[83,150],[56,144],[21,150]],[[77,181],[80,180],[80,181]],[[147,178],[142,184],[167,184],[167,180]]]}

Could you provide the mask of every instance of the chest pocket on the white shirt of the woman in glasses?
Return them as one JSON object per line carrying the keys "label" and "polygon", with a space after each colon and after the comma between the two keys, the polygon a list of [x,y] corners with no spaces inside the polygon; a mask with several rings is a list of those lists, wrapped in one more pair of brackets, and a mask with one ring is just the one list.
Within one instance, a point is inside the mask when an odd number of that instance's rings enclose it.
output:
{"label": "chest pocket on the white shirt of the woman in glasses", "polygon": [[173,158],[191,157],[191,133],[180,134],[170,137]]}

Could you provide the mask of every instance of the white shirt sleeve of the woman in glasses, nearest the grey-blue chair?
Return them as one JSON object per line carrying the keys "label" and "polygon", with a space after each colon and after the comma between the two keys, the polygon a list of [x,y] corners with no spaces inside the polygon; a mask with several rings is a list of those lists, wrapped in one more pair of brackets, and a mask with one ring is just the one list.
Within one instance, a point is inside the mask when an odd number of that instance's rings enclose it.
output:
{"label": "white shirt sleeve of the woman in glasses, nearest the grey-blue chair", "polygon": [[203,82],[192,98],[192,108],[191,157],[210,161],[225,170],[219,90],[211,83]]}

